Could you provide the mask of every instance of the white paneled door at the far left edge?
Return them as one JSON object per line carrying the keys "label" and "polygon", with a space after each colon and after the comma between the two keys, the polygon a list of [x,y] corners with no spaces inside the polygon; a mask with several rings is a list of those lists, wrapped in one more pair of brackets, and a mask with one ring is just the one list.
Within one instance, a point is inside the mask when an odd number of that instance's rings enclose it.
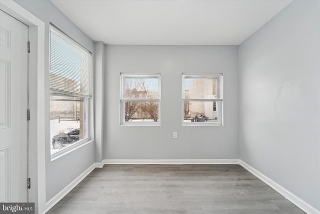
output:
{"label": "white paneled door at the far left edge", "polygon": [[0,201],[27,202],[27,41],[0,11]]}

